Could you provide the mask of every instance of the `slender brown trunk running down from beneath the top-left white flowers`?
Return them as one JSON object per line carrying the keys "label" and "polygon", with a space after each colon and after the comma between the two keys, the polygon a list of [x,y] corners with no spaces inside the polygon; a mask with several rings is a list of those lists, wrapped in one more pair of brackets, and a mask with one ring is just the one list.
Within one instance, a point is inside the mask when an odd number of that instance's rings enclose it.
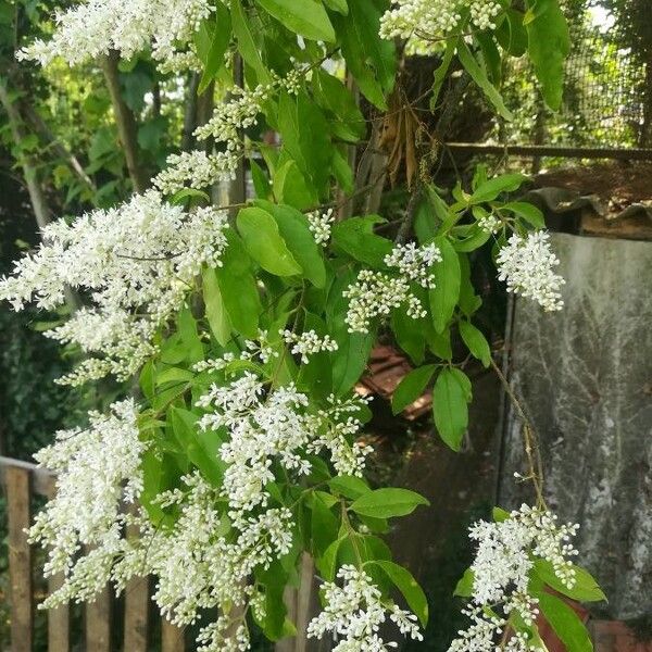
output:
{"label": "slender brown trunk running down from beneath the top-left white flowers", "polygon": [[102,55],[101,66],[109,87],[117,135],[124,148],[129,178],[136,192],[143,192],[149,185],[149,178],[139,162],[136,118],[120,92],[117,54],[111,52],[108,55]]}

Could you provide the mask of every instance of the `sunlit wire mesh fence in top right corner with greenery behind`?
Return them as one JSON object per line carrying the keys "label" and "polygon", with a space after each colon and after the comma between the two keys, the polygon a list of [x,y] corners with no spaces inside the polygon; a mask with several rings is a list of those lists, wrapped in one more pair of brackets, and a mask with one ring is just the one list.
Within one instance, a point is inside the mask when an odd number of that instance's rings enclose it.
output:
{"label": "sunlit wire mesh fence in top right corner with greenery behind", "polygon": [[647,57],[627,47],[623,28],[603,1],[580,0],[572,12],[572,52],[559,112],[544,106],[525,58],[511,64],[503,96],[515,118],[497,122],[493,141],[616,149],[651,145],[645,141],[652,95]]}

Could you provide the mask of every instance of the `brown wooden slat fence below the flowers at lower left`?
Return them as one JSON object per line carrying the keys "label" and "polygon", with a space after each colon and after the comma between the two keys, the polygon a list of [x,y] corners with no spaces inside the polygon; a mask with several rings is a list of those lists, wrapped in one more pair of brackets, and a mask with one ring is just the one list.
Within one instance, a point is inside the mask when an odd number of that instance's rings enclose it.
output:
{"label": "brown wooden slat fence below the flowers at lower left", "polygon": [[[7,497],[9,521],[9,578],[11,604],[11,651],[32,652],[34,647],[35,585],[33,552],[27,543],[25,528],[32,519],[35,496],[51,496],[54,479],[47,471],[27,462],[0,456],[0,485]],[[55,590],[60,577],[49,580],[49,590]],[[151,622],[150,587],[147,581],[134,581],[125,591],[124,601],[116,601],[109,588],[98,599],[83,607],[84,626],[79,637],[73,640],[71,611],[67,605],[47,613],[48,650],[67,652],[71,647],[87,652],[111,652],[112,639],[122,639],[118,649],[125,652],[146,652],[155,627],[161,627],[162,652],[184,652],[184,632],[166,620]],[[124,617],[117,614],[124,605]],[[123,631],[116,637],[114,624],[121,623]]]}

